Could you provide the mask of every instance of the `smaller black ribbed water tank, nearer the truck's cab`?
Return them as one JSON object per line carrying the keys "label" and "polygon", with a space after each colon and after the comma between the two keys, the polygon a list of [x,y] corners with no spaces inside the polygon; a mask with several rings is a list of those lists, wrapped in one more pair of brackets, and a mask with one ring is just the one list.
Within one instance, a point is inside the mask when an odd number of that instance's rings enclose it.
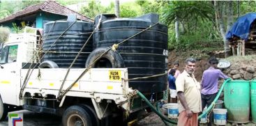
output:
{"label": "smaller black ribbed water tank, nearer the truck's cab", "polygon": [[[93,31],[93,22],[80,22],[77,21],[69,29],[68,27],[73,22],[57,21],[48,22],[44,26],[43,34],[43,54],[51,47],[43,61],[54,61],[59,65],[59,68],[68,68],[77,56],[86,40]],[[66,31],[68,29],[68,31]],[[61,33],[66,31],[61,38]],[[59,38],[59,40],[57,40]],[[57,42],[55,42],[57,40]],[[53,43],[55,44],[53,45]],[[73,64],[72,68],[84,68],[86,58],[92,51],[92,38],[87,43],[82,53]]]}

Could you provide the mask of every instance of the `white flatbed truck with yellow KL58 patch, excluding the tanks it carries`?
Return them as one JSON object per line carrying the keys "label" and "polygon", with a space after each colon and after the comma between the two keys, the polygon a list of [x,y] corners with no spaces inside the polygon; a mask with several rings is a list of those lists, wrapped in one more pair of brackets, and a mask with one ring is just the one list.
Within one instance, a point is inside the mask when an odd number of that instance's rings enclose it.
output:
{"label": "white flatbed truck with yellow KL58 patch, excluding the tanks it carries", "polygon": [[1,47],[0,120],[27,109],[62,116],[68,126],[121,125],[144,111],[127,68],[91,68],[83,75],[85,68],[40,68],[40,30],[29,29],[10,34]]}

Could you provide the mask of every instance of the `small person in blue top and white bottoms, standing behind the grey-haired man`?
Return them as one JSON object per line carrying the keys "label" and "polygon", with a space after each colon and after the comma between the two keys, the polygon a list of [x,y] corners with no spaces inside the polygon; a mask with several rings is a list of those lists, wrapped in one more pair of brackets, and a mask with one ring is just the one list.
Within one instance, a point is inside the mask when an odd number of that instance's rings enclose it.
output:
{"label": "small person in blue top and white bottoms, standing behind the grey-haired man", "polygon": [[177,93],[176,93],[176,86],[175,86],[175,74],[176,70],[171,69],[168,75],[168,84],[169,84],[169,89],[170,89],[170,97],[172,98],[172,103],[177,102]]}

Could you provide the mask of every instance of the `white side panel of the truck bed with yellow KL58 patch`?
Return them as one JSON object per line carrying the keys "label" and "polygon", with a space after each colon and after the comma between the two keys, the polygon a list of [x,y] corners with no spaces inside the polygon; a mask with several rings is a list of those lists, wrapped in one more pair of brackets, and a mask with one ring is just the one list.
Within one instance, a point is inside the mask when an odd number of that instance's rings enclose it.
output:
{"label": "white side panel of the truck bed with yellow KL58 patch", "polygon": [[[59,93],[61,84],[68,69],[51,68],[35,69],[27,81],[22,96],[25,93],[31,95],[38,93],[43,97],[46,95],[55,95]],[[27,69],[21,71],[22,82],[27,74]],[[84,71],[83,68],[70,69],[63,90],[73,84],[75,79]],[[66,93],[66,96],[73,97],[91,97],[95,100],[114,100],[116,104],[126,101],[128,97],[128,79],[127,68],[92,68],[74,84]]]}

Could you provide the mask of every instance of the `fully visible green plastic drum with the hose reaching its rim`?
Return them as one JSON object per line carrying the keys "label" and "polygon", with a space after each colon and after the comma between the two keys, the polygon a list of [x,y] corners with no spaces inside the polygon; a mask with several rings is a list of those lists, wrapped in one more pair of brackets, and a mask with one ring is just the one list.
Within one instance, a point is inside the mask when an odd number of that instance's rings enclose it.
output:
{"label": "fully visible green plastic drum with the hose reaching its rim", "polygon": [[227,121],[248,123],[250,115],[250,81],[233,80],[224,88],[224,104]]}

